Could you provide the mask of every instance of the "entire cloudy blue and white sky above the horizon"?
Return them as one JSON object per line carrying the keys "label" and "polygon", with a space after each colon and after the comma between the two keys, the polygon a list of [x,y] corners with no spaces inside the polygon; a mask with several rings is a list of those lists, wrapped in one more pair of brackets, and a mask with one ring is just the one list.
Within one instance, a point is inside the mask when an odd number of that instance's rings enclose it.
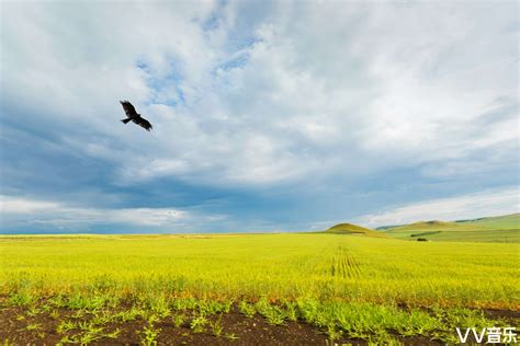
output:
{"label": "entire cloudy blue and white sky above the horizon", "polygon": [[519,212],[518,7],[2,1],[0,233]]}

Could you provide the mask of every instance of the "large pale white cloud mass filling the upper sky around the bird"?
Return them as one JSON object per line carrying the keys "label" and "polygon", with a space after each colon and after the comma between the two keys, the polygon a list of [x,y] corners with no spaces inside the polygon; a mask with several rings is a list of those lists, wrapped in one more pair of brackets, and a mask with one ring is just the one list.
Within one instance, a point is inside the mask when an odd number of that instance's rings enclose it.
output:
{"label": "large pale white cloud mass filling the upper sky around the bird", "polygon": [[[275,184],[347,168],[355,176],[518,139],[515,114],[477,138],[471,126],[500,97],[518,103],[506,4],[280,4],[246,27],[253,41],[238,50],[229,43],[247,7],[224,5],[204,31],[215,9],[4,4],[3,97],[83,128],[63,136],[117,163],[123,181]],[[117,124],[123,97],[152,134]],[[92,136],[105,143],[84,146]]]}

